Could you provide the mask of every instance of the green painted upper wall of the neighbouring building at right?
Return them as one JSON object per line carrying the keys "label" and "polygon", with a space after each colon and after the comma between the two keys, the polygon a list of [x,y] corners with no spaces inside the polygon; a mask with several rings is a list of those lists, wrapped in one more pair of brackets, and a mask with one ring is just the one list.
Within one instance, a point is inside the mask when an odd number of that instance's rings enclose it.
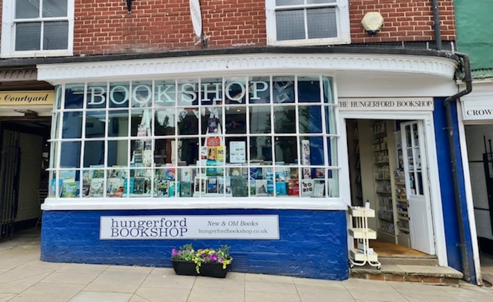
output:
{"label": "green painted upper wall of the neighbouring building at right", "polygon": [[472,70],[493,68],[493,0],[454,3],[457,50],[469,55]]}

